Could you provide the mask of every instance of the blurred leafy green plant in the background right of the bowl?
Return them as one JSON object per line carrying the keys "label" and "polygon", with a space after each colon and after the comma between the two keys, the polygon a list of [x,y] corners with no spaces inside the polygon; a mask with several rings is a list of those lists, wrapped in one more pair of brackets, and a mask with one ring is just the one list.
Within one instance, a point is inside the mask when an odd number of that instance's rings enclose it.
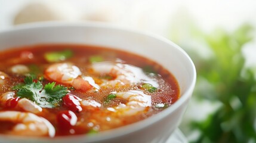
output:
{"label": "blurred leafy green plant in the background right of the bowl", "polygon": [[208,58],[186,48],[198,74],[193,98],[220,102],[206,119],[192,121],[190,130],[200,135],[190,142],[256,142],[256,80],[242,54],[243,45],[252,41],[252,30],[248,24],[232,33],[218,29],[205,35],[198,30],[194,36],[211,49]]}

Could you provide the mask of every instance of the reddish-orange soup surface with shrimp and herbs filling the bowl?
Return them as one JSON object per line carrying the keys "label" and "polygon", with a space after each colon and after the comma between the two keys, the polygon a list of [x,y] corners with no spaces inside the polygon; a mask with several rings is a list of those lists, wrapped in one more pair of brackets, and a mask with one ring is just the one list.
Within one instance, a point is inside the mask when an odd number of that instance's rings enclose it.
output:
{"label": "reddish-orange soup surface with shrimp and herbs filling the bowl", "polygon": [[0,133],[98,133],[146,119],[180,96],[175,78],[147,58],[89,45],[0,52]]}

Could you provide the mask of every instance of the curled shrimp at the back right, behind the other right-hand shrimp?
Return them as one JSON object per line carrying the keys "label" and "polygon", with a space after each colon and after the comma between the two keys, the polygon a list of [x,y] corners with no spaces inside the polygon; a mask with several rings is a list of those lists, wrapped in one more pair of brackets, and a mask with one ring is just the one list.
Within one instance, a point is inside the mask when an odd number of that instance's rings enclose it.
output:
{"label": "curled shrimp at the back right, behind the other right-hand shrimp", "polygon": [[103,80],[103,83],[100,85],[101,87],[117,87],[138,82],[147,82],[155,87],[159,86],[156,81],[150,79],[139,67],[129,64],[99,62],[92,63],[91,69],[95,73],[112,77],[112,80]]}

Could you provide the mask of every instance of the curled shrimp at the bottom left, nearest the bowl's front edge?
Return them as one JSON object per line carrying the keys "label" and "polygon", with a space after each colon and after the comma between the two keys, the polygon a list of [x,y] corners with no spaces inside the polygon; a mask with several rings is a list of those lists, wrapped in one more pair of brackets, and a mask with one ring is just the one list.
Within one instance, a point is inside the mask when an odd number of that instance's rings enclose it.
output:
{"label": "curled shrimp at the bottom left, nearest the bowl's front edge", "polygon": [[20,111],[0,111],[0,122],[13,122],[15,126],[7,133],[21,136],[45,136],[53,137],[55,129],[51,123],[43,117],[33,113]]}

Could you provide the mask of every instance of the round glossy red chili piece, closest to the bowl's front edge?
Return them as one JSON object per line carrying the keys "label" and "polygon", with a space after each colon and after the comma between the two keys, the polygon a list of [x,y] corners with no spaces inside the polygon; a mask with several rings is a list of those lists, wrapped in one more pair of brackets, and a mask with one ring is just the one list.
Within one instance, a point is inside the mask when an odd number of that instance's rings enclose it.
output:
{"label": "round glossy red chili piece, closest to the bowl's front edge", "polygon": [[64,110],[64,111],[60,111],[57,114],[57,122],[59,127],[62,129],[72,128],[72,126],[76,125],[77,121],[78,121],[78,117],[76,117],[76,114],[73,113],[73,111]]}

